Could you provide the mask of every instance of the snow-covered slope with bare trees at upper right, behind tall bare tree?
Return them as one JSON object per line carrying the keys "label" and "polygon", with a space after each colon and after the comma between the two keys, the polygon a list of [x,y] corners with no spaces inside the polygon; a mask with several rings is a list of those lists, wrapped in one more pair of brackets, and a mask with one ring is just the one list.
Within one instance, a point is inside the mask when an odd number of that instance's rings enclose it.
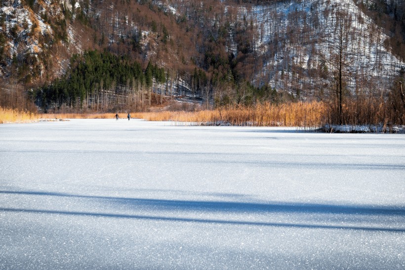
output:
{"label": "snow-covered slope with bare trees at upper right, behind tall bare tree", "polygon": [[[393,75],[405,64],[390,52],[385,43],[388,36],[352,0],[285,0],[239,8],[240,18],[254,22],[257,29],[253,44],[261,68],[256,70],[255,82],[276,89],[287,87],[303,97],[314,94],[309,88],[323,85],[323,80],[314,82],[313,70],[335,70],[332,62],[339,14],[347,24],[344,65],[348,88],[360,90],[366,84],[389,87]],[[235,44],[229,50],[238,54]]]}

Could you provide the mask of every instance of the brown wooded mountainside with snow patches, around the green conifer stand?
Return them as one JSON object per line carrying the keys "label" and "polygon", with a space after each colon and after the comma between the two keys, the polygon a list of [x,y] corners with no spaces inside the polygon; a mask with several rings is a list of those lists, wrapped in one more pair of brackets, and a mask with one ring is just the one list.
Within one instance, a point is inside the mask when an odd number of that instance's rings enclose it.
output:
{"label": "brown wooded mountainside with snow patches, around the green conifer stand", "polygon": [[[159,92],[212,105],[388,96],[405,66],[404,5],[2,0],[0,76],[8,86],[2,96],[24,96],[57,78],[71,80],[71,57],[94,49],[136,61],[144,73],[148,63],[164,69],[167,83]],[[113,85],[105,90],[117,99],[125,87]],[[149,87],[158,92],[155,84]],[[81,88],[81,100],[70,106],[87,104],[82,98],[94,90]],[[0,98],[3,105],[14,103],[7,98],[8,103]]]}

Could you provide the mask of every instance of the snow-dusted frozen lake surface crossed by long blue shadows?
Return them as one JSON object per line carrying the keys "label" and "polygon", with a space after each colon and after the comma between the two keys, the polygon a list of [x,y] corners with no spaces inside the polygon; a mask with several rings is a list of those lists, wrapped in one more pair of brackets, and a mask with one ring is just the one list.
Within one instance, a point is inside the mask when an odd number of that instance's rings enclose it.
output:
{"label": "snow-dusted frozen lake surface crossed by long blue shadows", "polygon": [[405,135],[0,125],[0,269],[404,269]]}

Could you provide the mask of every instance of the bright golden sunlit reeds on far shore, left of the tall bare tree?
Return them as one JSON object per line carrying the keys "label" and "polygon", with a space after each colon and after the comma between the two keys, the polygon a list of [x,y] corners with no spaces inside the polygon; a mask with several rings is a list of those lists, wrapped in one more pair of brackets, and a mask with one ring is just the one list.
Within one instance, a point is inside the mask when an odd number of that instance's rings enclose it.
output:
{"label": "bright golden sunlit reeds on far shore, left of the tall bare tree", "polygon": [[[255,107],[240,107],[230,109],[205,110],[196,112],[160,111],[134,112],[132,118],[147,121],[175,121],[193,123],[195,125],[230,125],[249,126],[285,126],[285,127],[319,127],[325,106],[322,102],[289,103],[281,105],[260,104]],[[68,113],[68,114],[34,114],[18,112],[10,109],[0,109],[0,123],[21,123],[39,119],[108,119],[114,118],[115,113]],[[119,113],[121,118],[126,113]]]}

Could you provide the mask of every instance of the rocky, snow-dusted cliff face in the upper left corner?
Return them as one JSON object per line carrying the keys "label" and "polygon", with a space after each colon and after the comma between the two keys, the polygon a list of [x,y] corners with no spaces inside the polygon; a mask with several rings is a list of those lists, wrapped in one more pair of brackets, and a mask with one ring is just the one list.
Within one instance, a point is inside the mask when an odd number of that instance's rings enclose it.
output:
{"label": "rocky, snow-dusted cliff face in the upper left corner", "polygon": [[63,73],[75,51],[70,42],[76,37],[69,35],[72,26],[62,4],[15,0],[1,6],[0,16],[2,77],[29,83]]}

